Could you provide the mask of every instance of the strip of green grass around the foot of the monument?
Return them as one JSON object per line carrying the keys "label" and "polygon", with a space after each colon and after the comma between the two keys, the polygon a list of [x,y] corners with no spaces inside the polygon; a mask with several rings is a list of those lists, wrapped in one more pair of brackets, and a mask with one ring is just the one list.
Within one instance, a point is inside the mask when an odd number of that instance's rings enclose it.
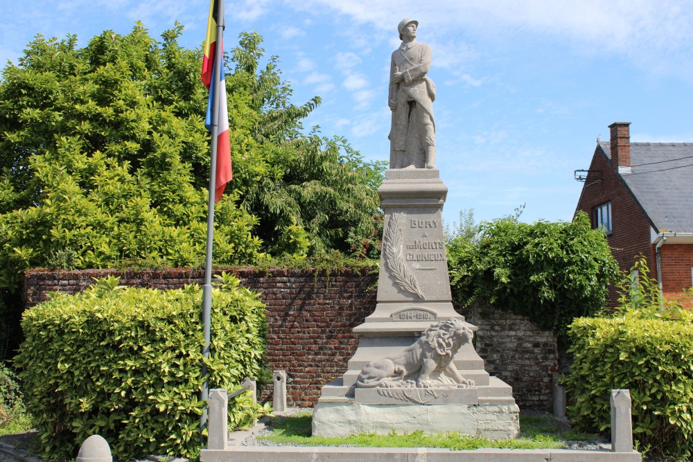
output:
{"label": "strip of green grass around the foot of the monument", "polygon": [[458,433],[387,435],[360,434],[348,438],[322,438],[311,436],[310,412],[300,412],[293,416],[275,418],[270,425],[271,436],[264,436],[274,443],[302,446],[350,445],[360,447],[445,447],[450,450],[474,450],[480,447],[500,449],[559,449],[565,447],[567,440],[591,439],[593,435],[578,434],[564,429],[551,416],[520,416],[520,438],[493,441],[479,436],[466,436]]}

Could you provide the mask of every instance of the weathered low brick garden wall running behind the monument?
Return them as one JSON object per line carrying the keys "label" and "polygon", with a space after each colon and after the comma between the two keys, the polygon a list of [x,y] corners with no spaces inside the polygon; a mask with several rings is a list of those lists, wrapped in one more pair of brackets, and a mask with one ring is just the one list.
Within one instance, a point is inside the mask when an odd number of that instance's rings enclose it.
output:
{"label": "weathered low brick garden wall running behind the monument", "polygon": [[[292,269],[227,269],[243,285],[259,292],[267,306],[268,359],[272,370],[284,370],[290,406],[312,406],[320,387],[347,370],[358,339],[351,330],[373,312],[377,275],[359,272],[324,273]],[[30,270],[24,279],[28,306],[47,292],[76,293],[94,278],[117,275],[122,285],[170,289],[202,285],[202,270],[166,271]],[[463,313],[478,323],[477,350],[487,369],[513,387],[518,405],[550,407],[551,380],[557,368],[556,340],[550,332],[513,314],[493,310]],[[471,319],[474,319],[472,321]],[[264,398],[271,398],[265,391]]]}

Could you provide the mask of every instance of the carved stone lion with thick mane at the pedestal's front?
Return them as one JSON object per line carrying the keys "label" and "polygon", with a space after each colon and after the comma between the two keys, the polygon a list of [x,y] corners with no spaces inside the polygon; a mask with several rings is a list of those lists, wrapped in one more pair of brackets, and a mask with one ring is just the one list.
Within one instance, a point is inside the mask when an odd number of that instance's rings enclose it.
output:
{"label": "carved stone lion with thick mane at the pedestal's front", "polygon": [[471,387],[473,380],[459,374],[453,358],[473,335],[460,319],[440,321],[401,353],[366,364],[358,375],[356,387]]}

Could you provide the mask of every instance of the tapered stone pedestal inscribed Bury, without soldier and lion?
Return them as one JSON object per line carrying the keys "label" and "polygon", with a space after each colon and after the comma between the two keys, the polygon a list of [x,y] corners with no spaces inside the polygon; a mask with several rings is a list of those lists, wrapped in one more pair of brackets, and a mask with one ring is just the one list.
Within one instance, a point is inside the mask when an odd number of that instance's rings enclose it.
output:
{"label": "tapered stone pedestal inscribed Bury, without soldier and lion", "polygon": [[[354,328],[359,344],[348,370],[322,388],[313,411],[313,435],[363,432],[452,432],[511,438],[519,433],[511,387],[484,370],[473,344],[463,344],[453,364],[475,386],[359,388],[362,368],[394,357],[446,319],[464,322],[453,309],[441,211],[448,188],[437,169],[391,169],[378,188],[385,213],[378,303]],[[449,360],[448,360],[449,361]],[[453,418],[454,416],[454,418]]]}

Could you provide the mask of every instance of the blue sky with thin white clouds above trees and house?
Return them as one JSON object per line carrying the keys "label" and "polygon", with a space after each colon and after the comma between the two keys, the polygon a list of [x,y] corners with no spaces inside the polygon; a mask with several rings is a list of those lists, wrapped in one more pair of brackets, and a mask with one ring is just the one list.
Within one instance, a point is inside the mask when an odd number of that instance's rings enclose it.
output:
{"label": "blue sky with thin white clouds above trees and house", "polygon": [[[0,59],[15,61],[37,34],[152,36],[185,25],[204,39],[207,0],[0,0]],[[429,73],[446,222],[570,220],[597,135],[631,122],[631,141],[693,142],[693,1],[239,0],[226,3],[226,48],[241,31],[265,37],[301,104],[322,105],[306,127],[344,135],[369,159],[389,158],[387,73],[403,17],[433,49]]]}

